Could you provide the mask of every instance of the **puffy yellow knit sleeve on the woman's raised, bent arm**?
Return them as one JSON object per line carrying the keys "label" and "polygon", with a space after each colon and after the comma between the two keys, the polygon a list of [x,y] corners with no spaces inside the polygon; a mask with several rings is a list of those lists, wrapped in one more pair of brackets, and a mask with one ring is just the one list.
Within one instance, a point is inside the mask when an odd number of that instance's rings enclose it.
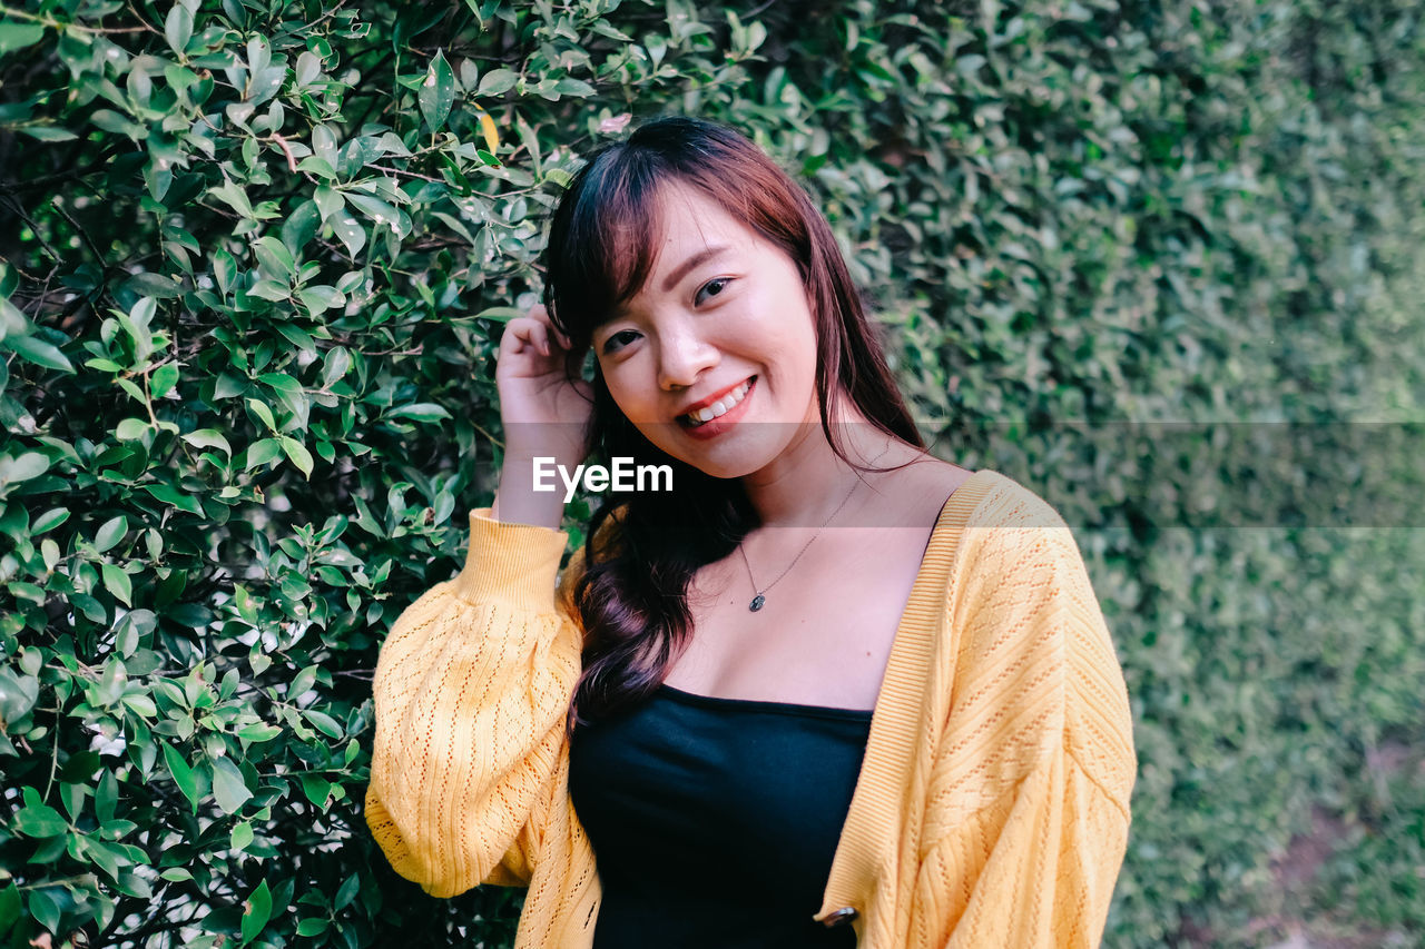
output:
{"label": "puffy yellow knit sleeve on the woman's raised, bent arm", "polygon": [[366,822],[396,872],[433,896],[527,883],[544,824],[567,811],[581,634],[556,594],[564,537],[472,512],[465,569],[382,645]]}

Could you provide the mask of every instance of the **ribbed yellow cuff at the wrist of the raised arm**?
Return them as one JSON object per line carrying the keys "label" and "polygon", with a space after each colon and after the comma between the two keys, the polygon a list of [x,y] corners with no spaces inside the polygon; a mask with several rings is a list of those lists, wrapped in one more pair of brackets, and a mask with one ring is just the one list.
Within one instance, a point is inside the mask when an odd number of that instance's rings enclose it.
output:
{"label": "ribbed yellow cuff at the wrist of the raised arm", "polygon": [[489,507],[477,507],[470,512],[470,550],[455,591],[472,603],[554,613],[554,580],[567,541],[563,530],[494,520]]}

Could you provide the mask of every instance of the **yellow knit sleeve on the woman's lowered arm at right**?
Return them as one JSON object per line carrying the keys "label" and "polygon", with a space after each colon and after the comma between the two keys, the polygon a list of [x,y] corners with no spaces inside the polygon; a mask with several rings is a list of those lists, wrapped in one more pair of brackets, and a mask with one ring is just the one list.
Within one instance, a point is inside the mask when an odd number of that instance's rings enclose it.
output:
{"label": "yellow knit sleeve on the woman's lowered arm at right", "polygon": [[1027,497],[965,539],[916,945],[1097,946],[1127,846],[1136,758],[1123,674],[1069,529]]}

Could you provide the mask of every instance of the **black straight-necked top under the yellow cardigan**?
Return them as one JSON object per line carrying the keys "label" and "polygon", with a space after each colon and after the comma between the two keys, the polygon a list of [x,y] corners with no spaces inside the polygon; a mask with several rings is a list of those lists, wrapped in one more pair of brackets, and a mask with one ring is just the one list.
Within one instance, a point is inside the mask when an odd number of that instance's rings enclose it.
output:
{"label": "black straight-necked top under the yellow cardigan", "polygon": [[598,864],[594,949],[846,949],[812,919],[871,712],[660,685],[577,728],[569,789]]}

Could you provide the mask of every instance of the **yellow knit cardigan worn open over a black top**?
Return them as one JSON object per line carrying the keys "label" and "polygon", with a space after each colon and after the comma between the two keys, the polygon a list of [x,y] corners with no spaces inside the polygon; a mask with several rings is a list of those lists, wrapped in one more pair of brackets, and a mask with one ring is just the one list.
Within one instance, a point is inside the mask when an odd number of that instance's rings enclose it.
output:
{"label": "yellow knit cardigan worn open over a black top", "polygon": [[[400,616],[373,687],[372,834],[435,896],[529,886],[517,949],[589,949],[600,899],[567,792],[581,633],[577,564],[556,593],[564,541],[472,512],[465,570]],[[932,531],[817,918],[849,921],[862,949],[1096,946],[1133,775],[1069,529],[978,472]]]}

